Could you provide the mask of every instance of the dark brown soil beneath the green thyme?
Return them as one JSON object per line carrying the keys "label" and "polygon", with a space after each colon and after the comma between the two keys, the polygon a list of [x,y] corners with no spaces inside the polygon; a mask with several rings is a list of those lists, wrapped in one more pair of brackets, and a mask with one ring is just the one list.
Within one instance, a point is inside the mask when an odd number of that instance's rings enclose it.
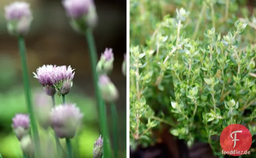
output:
{"label": "dark brown soil beneath the green thyme", "polygon": [[[217,156],[213,156],[211,147],[206,143],[195,142],[188,149],[184,140],[178,140],[168,131],[163,131],[159,139],[161,139],[160,143],[154,146],[147,148],[139,146],[135,151],[130,149],[130,158],[218,158]],[[254,136],[253,140],[255,139],[256,137]],[[252,144],[252,148],[256,148],[255,142]],[[248,156],[250,158],[253,157],[252,155]],[[230,157],[233,156],[225,156],[225,158]]]}

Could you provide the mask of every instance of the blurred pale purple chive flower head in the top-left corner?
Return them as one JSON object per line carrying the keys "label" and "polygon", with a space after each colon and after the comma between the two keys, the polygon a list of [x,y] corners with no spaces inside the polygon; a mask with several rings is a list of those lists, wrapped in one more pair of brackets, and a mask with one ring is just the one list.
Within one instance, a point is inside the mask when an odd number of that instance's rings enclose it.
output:
{"label": "blurred pale purple chive flower head in the top-left corner", "polygon": [[27,2],[12,2],[4,7],[7,29],[12,35],[28,33],[33,20],[30,5]]}

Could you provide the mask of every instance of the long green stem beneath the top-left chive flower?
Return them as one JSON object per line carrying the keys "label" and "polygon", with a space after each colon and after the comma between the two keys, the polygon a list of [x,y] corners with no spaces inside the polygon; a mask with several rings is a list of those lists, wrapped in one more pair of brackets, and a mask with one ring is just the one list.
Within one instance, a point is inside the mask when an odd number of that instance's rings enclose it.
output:
{"label": "long green stem beneath the top-left chive flower", "polygon": [[29,73],[27,68],[25,40],[23,36],[18,37],[18,44],[19,44],[19,52],[21,56],[21,63],[22,63],[22,69],[23,69],[23,82],[24,82],[25,98],[27,102],[27,110],[29,113],[32,135],[35,142],[35,157],[40,158],[41,154],[40,154],[39,134],[37,130],[37,125],[36,125],[34,111],[33,111],[33,105],[31,101],[31,90],[30,90],[30,84],[29,84]]}

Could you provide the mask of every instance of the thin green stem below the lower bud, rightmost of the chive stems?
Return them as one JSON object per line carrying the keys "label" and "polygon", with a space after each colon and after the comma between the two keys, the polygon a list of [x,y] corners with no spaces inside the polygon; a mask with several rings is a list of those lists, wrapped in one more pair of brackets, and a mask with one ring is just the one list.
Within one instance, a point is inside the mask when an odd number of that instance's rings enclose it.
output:
{"label": "thin green stem below the lower bud, rightmost of the chive stems", "polygon": [[116,111],[116,105],[114,103],[111,103],[111,117],[112,117],[112,123],[113,123],[113,131],[114,131],[114,158],[118,158],[118,127],[117,127],[117,111]]}

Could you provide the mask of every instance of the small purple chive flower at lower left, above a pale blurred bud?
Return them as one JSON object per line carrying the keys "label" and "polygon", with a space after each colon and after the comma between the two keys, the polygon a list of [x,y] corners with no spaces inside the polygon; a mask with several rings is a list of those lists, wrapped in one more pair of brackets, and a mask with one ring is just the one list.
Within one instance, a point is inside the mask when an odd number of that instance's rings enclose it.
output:
{"label": "small purple chive flower at lower left, above a pale blurred bud", "polygon": [[12,118],[12,129],[17,136],[18,140],[24,135],[29,133],[30,128],[30,119],[27,114],[16,114],[14,118]]}

